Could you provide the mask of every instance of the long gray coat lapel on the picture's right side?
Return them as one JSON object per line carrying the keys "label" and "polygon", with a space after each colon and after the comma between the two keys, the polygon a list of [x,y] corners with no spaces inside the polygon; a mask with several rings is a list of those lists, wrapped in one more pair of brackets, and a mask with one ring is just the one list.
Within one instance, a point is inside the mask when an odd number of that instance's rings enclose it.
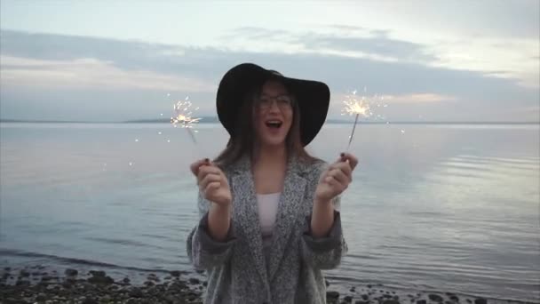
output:
{"label": "long gray coat lapel on the picture's right side", "polygon": [[283,252],[289,242],[292,229],[296,226],[298,213],[302,211],[302,200],[306,192],[306,178],[302,168],[303,166],[295,158],[292,158],[285,174],[270,248],[270,265],[268,265],[270,280],[274,277],[283,258]]}

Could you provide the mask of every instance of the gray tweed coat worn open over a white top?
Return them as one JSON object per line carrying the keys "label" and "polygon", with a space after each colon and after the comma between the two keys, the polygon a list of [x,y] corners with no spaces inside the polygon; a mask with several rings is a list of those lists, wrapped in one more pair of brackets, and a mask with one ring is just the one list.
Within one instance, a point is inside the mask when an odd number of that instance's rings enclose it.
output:
{"label": "gray tweed coat worn open over a white top", "polygon": [[233,195],[231,228],[225,242],[216,242],[207,233],[210,203],[199,195],[201,220],[187,236],[187,255],[195,268],[207,271],[205,303],[326,303],[321,270],[338,267],[346,244],[337,211],[329,236],[314,239],[310,235],[314,192],[325,166],[323,162],[308,165],[290,160],[269,252],[263,252],[247,157],[223,169]]}

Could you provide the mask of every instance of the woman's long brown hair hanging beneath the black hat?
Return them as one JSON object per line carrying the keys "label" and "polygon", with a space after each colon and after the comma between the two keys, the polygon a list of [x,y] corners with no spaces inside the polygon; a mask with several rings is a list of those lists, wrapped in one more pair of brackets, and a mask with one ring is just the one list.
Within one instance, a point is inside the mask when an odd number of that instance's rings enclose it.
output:
{"label": "woman's long brown hair hanging beneath the black hat", "polygon": [[[277,72],[276,72],[277,74]],[[269,77],[266,82],[278,82],[285,86],[279,78],[279,74],[274,77]],[[290,96],[292,97],[292,124],[290,126],[289,133],[285,139],[285,147],[287,150],[287,156],[296,156],[299,160],[306,163],[313,163],[317,160],[314,156],[310,156],[300,137],[300,108],[296,98],[291,94],[290,89],[287,88]],[[254,151],[257,143],[256,128],[253,124],[254,109],[257,105],[258,97],[262,92],[262,85],[257,88],[253,88],[244,95],[242,100],[242,107],[238,113],[236,124],[234,125],[234,135],[228,140],[226,148],[214,159],[214,163],[221,167],[234,164],[236,161],[242,158],[242,156],[250,156],[253,160]]]}

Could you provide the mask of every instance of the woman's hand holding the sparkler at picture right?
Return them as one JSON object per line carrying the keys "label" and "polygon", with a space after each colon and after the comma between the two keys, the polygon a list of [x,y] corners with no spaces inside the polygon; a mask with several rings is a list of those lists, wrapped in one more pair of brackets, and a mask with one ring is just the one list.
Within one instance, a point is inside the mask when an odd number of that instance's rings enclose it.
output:
{"label": "woman's hand holding the sparkler at picture right", "polygon": [[350,153],[342,153],[338,161],[322,172],[315,190],[315,201],[329,202],[345,191],[353,181],[353,170],[358,159]]}

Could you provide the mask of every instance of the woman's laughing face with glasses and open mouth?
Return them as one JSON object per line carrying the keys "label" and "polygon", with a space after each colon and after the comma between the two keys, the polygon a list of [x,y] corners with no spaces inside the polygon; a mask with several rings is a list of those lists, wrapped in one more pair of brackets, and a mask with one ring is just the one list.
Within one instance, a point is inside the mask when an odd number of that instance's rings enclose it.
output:
{"label": "woman's laughing face with glasses and open mouth", "polygon": [[283,84],[275,81],[263,85],[255,100],[255,126],[262,146],[279,146],[285,143],[292,124],[293,104]]}

